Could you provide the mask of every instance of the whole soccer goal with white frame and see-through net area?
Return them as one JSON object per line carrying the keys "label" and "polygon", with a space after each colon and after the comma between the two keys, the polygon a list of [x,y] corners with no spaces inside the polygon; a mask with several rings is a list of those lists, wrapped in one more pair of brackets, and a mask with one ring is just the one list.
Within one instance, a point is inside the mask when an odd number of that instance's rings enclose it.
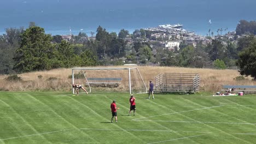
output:
{"label": "whole soccer goal with white frame and see-through net area", "polygon": [[72,84],[76,83],[89,92],[147,93],[138,68],[72,68]]}

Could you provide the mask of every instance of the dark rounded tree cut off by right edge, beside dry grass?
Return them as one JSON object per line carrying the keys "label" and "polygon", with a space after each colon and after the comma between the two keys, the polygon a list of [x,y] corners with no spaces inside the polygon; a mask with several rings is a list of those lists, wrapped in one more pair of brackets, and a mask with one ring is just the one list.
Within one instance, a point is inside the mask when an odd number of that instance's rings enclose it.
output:
{"label": "dark rounded tree cut off by right edge, beside dry grass", "polygon": [[256,80],[256,39],[239,53],[236,65],[241,75],[251,75]]}

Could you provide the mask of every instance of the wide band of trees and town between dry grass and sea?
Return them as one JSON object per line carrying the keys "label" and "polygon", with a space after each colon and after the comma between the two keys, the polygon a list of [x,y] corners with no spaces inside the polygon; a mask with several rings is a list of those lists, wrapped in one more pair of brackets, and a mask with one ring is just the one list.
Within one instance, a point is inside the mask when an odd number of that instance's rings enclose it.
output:
{"label": "wide band of trees and town between dry grass and sea", "polygon": [[125,29],[118,34],[109,33],[98,26],[95,39],[80,32],[67,41],[61,35],[45,34],[44,29],[34,23],[27,29],[7,28],[6,34],[0,35],[0,73],[123,65],[125,62],[219,69],[237,65],[242,75],[255,77],[254,35],[239,38],[237,44],[225,37],[216,37],[207,45],[197,41],[196,47],[182,41],[180,49],[169,51],[160,41],[152,40],[153,33],[144,29],[136,29],[132,34]]}

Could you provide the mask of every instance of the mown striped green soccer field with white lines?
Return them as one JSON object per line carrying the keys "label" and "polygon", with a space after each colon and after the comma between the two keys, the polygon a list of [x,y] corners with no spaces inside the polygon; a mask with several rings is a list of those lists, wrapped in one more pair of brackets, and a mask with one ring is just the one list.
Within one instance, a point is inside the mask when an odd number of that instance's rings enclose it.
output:
{"label": "mown striped green soccer field with white lines", "polygon": [[[256,95],[0,92],[0,143],[255,143]],[[152,97],[151,97],[152,98]],[[117,101],[118,123],[110,123]]]}

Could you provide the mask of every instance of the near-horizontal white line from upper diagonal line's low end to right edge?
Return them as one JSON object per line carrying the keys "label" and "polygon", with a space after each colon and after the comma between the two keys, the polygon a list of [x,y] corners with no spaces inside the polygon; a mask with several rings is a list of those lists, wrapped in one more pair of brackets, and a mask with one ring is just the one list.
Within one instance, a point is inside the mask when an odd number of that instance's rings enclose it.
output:
{"label": "near-horizontal white line from upper diagonal line's low end to right edge", "polygon": [[161,121],[161,120],[134,120],[134,121],[150,121],[150,122],[173,122],[173,123],[219,123],[219,124],[251,124],[256,125],[256,123],[234,123],[234,122],[192,122],[192,121]]}

